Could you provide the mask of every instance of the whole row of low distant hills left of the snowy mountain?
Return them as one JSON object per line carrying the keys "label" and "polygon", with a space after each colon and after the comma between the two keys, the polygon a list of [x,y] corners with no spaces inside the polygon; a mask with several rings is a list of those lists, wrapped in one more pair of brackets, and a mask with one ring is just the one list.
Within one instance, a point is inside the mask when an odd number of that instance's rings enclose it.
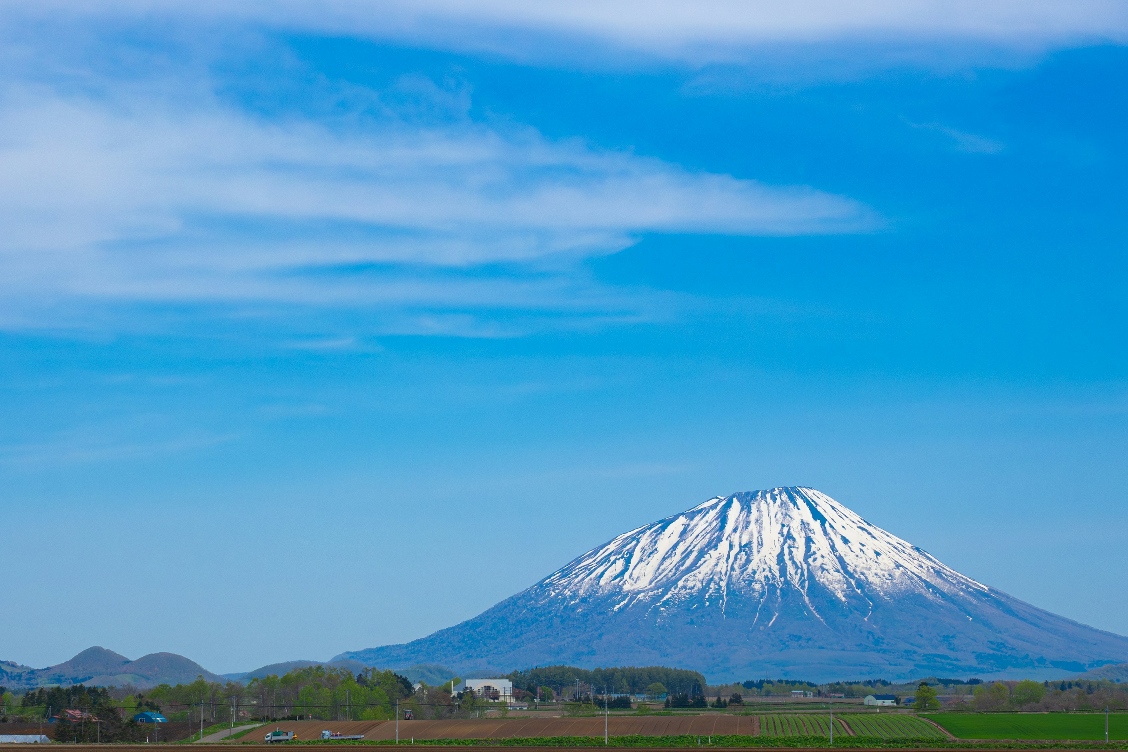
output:
{"label": "whole row of low distant hills left of the snowy mountain", "polygon": [[[130,661],[124,655],[107,651],[104,647],[90,647],[70,661],[46,669],[33,669],[11,661],[0,661],[0,687],[14,690],[35,689],[36,687],[53,687],[62,684],[86,684],[87,687],[123,687],[132,684],[139,689],[148,689],[157,684],[190,684],[197,676],[208,681],[238,681],[247,683],[252,679],[262,679],[271,674],[282,675],[302,666],[340,666],[352,672],[363,671],[369,664],[361,661],[287,661],[272,663],[254,671],[232,674],[213,674],[195,661],[175,653],[150,653],[136,661]],[[412,681],[425,681],[429,684],[441,684],[455,674],[439,665],[417,665],[399,669],[397,673]]]}

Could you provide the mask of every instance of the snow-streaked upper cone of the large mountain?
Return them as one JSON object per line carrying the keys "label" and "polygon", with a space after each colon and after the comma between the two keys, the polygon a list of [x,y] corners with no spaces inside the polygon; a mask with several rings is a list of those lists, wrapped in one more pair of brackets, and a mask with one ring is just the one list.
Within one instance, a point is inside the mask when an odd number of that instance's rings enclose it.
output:
{"label": "snow-streaked upper cone of the large mountain", "polygon": [[[563,599],[618,591],[625,598],[616,610],[699,596],[724,612],[730,590],[763,596],[790,586],[804,594],[818,617],[809,598],[813,583],[844,603],[867,592],[988,592],[810,488],[711,498],[623,533],[550,575],[541,587],[547,596]],[[770,603],[763,605],[754,623],[777,618]]]}

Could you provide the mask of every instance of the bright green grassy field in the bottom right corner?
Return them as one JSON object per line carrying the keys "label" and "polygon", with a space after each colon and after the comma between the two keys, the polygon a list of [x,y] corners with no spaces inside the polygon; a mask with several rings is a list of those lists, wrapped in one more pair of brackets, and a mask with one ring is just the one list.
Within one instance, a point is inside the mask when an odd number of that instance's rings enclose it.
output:
{"label": "bright green grassy field in the bottom right corner", "polygon": [[[928,718],[960,738],[1104,741],[1103,713],[938,713]],[[1128,740],[1128,714],[1109,715],[1109,740]]]}

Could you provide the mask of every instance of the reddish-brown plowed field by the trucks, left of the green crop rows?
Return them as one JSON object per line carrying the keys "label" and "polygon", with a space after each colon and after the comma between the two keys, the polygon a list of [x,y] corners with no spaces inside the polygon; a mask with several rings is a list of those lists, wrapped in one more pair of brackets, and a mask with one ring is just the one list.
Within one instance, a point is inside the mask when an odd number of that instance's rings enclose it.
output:
{"label": "reddish-brown plowed field by the trucks, left of the green crop rows", "polygon": [[[608,718],[607,731],[611,736],[640,734],[667,736],[672,734],[755,734],[758,724],[751,717],[739,716],[642,716],[637,718]],[[756,718],[758,720],[758,718]],[[341,732],[344,736],[364,734],[364,738],[396,737],[395,720],[283,720],[257,728],[235,743],[259,742],[268,731],[280,728],[298,734],[299,741],[321,737],[321,731]],[[485,718],[481,720],[400,720],[400,740],[429,738],[512,738],[514,736],[602,736],[602,718]]]}

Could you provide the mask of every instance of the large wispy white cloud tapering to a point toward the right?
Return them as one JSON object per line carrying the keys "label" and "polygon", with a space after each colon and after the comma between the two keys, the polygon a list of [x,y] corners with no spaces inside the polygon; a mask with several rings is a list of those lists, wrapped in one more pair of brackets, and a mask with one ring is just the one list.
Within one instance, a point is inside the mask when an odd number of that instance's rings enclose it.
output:
{"label": "large wispy white cloud tapering to a point toward the right", "polygon": [[129,303],[371,309],[385,329],[485,336],[512,333],[487,310],[637,320],[653,301],[578,262],[652,232],[880,224],[814,188],[465,117],[265,118],[208,97],[41,81],[5,88],[0,130],[9,327]]}

